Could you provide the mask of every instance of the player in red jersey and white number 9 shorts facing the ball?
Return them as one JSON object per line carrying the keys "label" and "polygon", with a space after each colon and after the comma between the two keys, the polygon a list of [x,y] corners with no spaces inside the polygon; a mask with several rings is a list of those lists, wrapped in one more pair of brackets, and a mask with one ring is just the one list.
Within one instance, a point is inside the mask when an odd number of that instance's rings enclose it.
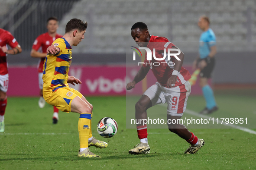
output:
{"label": "player in red jersey and white number 9 shorts facing the ball", "polygon": [[[145,57],[144,64],[139,69],[139,72],[134,77],[133,81],[126,85],[127,90],[135,88],[136,83],[145,78],[149,69],[152,70],[157,79],[157,82],[148,88],[136,103],[136,120],[147,120],[146,110],[149,109],[149,107],[156,104],[167,103],[167,120],[175,120],[175,122],[178,122],[177,120],[181,119],[181,116],[186,109],[188,95],[191,91],[191,85],[188,82],[188,79],[190,79],[191,76],[188,70],[182,67],[184,54],[180,51],[181,53],[177,55],[180,60],[172,56],[171,60],[175,64],[169,65],[168,60],[162,59],[164,49],[178,48],[167,38],[150,35],[147,25],[143,22],[137,22],[132,26],[131,35],[139,47],[149,48],[152,51],[152,54],[154,51],[153,49],[155,49],[155,56],[158,58],[158,60],[156,60],[152,57],[152,60],[149,61]],[[155,62],[157,64],[154,65]],[[159,65],[158,63],[161,64]],[[185,154],[194,154],[204,145],[203,139],[198,139],[197,136],[192,132],[189,132],[188,129],[179,122],[175,124],[168,122],[168,128],[171,132],[176,133],[179,137],[191,144],[185,151]],[[136,145],[135,148],[131,149],[129,153],[149,153],[150,147],[147,139],[147,126],[137,124],[137,132],[140,143]]]}

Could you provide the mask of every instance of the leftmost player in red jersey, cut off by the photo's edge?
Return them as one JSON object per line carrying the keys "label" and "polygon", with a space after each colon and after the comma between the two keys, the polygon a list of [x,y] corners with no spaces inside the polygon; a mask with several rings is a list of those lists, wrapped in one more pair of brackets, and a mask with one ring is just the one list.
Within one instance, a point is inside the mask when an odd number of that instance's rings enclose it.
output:
{"label": "leftmost player in red jersey, cut off by the photo's edge", "polygon": [[[7,49],[7,44],[12,48]],[[0,28],[0,132],[4,132],[4,113],[7,105],[6,92],[9,83],[7,54],[19,54],[22,49],[9,31]]]}

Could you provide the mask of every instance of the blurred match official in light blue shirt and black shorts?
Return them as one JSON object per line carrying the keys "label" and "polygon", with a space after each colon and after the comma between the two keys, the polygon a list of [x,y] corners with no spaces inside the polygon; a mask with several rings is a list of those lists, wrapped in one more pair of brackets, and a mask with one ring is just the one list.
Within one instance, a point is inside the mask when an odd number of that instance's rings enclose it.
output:
{"label": "blurred match official in light blue shirt and black shorts", "polygon": [[206,107],[202,110],[201,114],[210,114],[218,110],[214,92],[210,85],[208,85],[208,79],[211,78],[211,72],[215,65],[216,50],[216,38],[214,32],[209,28],[210,20],[207,16],[201,16],[198,21],[199,28],[204,31],[201,34],[199,42],[199,56],[194,60],[193,69],[199,68],[201,71],[200,86],[202,88],[204,99],[206,101]]}

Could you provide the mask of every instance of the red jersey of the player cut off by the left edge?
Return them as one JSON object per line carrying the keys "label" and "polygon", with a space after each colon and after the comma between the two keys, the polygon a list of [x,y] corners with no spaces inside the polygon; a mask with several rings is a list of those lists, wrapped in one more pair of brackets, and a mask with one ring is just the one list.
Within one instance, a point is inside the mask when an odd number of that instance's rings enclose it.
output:
{"label": "red jersey of the player cut off by the left edge", "polygon": [[[11,35],[9,31],[0,28],[0,46],[10,45],[11,48],[15,48],[19,43]],[[0,50],[0,75],[8,74],[6,54]]]}

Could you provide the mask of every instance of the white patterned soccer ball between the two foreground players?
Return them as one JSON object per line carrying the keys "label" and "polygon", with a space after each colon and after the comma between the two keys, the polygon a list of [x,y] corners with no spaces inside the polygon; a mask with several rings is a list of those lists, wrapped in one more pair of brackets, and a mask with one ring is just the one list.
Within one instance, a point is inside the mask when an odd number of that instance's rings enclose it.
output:
{"label": "white patterned soccer ball between the two foreground players", "polygon": [[104,138],[112,138],[117,133],[117,122],[110,117],[102,118],[98,125],[97,131]]}

